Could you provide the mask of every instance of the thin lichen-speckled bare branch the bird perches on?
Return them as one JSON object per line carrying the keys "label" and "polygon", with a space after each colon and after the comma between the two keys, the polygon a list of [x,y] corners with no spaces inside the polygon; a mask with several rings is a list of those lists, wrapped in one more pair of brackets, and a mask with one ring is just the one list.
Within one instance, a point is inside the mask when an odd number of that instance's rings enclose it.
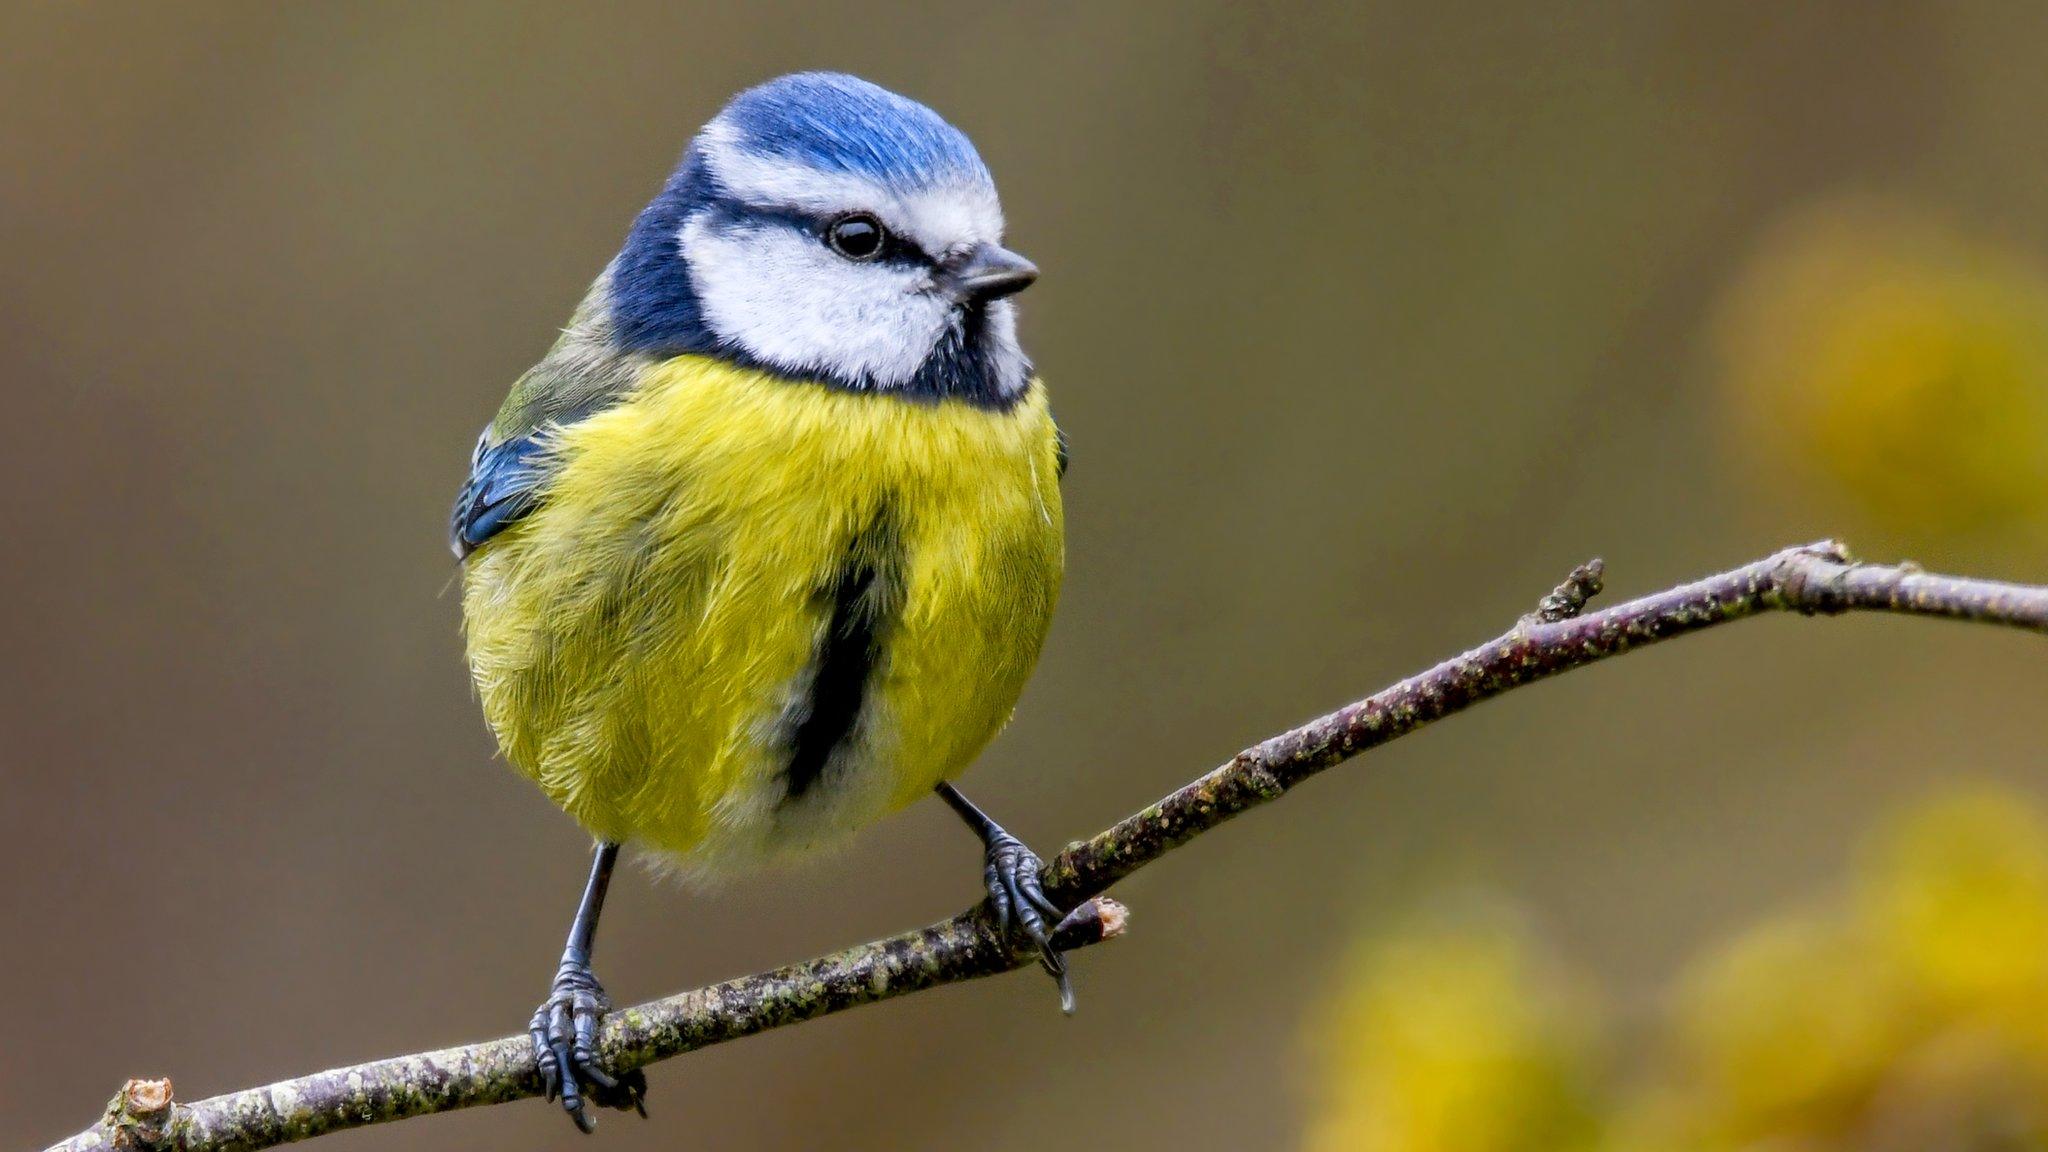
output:
{"label": "thin lichen-speckled bare branch the bird perches on", "polygon": [[[1720,623],[1772,613],[1882,611],[2048,631],[2048,588],[1931,576],[1915,566],[1855,564],[1831,541],[1794,547],[1720,576],[1585,613],[1602,568],[1575,570],[1507,633],[1380,693],[1245,748],[1221,769],[1137,812],[1047,865],[1047,894],[1075,906],[1061,947],[1116,937],[1124,910],[1102,894],[1118,879],[1300,781],[1417,728],[1530,685]],[[612,1068],[641,1068],[940,984],[1032,963],[999,939],[987,908],[928,929],[623,1009],[600,1043]],[[129,1080],[100,1123],[51,1152],[272,1148],[344,1127],[541,1095],[524,1035],[397,1056],[246,1088],[190,1105],[166,1080]]]}

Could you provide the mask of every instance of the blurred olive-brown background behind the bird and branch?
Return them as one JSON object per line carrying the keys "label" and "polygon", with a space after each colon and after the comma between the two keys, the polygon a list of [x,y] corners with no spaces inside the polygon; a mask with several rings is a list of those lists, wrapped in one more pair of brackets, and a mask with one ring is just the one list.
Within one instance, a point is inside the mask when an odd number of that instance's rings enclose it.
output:
{"label": "blurred olive-brown background behind the bird and branch", "polygon": [[[16,0],[0,1144],[133,1074],[524,1023],[586,845],[492,758],[444,510],[686,137],[797,68],[963,125],[1047,269],[1071,574],[969,777],[1040,849],[1595,553],[1614,594],[1823,535],[2048,580],[2038,4]],[[1880,814],[2048,795],[2044,689],[2036,637],[1888,619],[1577,672],[1133,879],[1073,1019],[1038,976],[864,1009],[664,1064],[600,1140],[1300,1146],[1360,933],[1507,894],[1626,1037]],[[725,892],[627,871],[600,972],[649,998],[975,892],[922,806]],[[324,1146],[575,1140],[528,1103]]]}

